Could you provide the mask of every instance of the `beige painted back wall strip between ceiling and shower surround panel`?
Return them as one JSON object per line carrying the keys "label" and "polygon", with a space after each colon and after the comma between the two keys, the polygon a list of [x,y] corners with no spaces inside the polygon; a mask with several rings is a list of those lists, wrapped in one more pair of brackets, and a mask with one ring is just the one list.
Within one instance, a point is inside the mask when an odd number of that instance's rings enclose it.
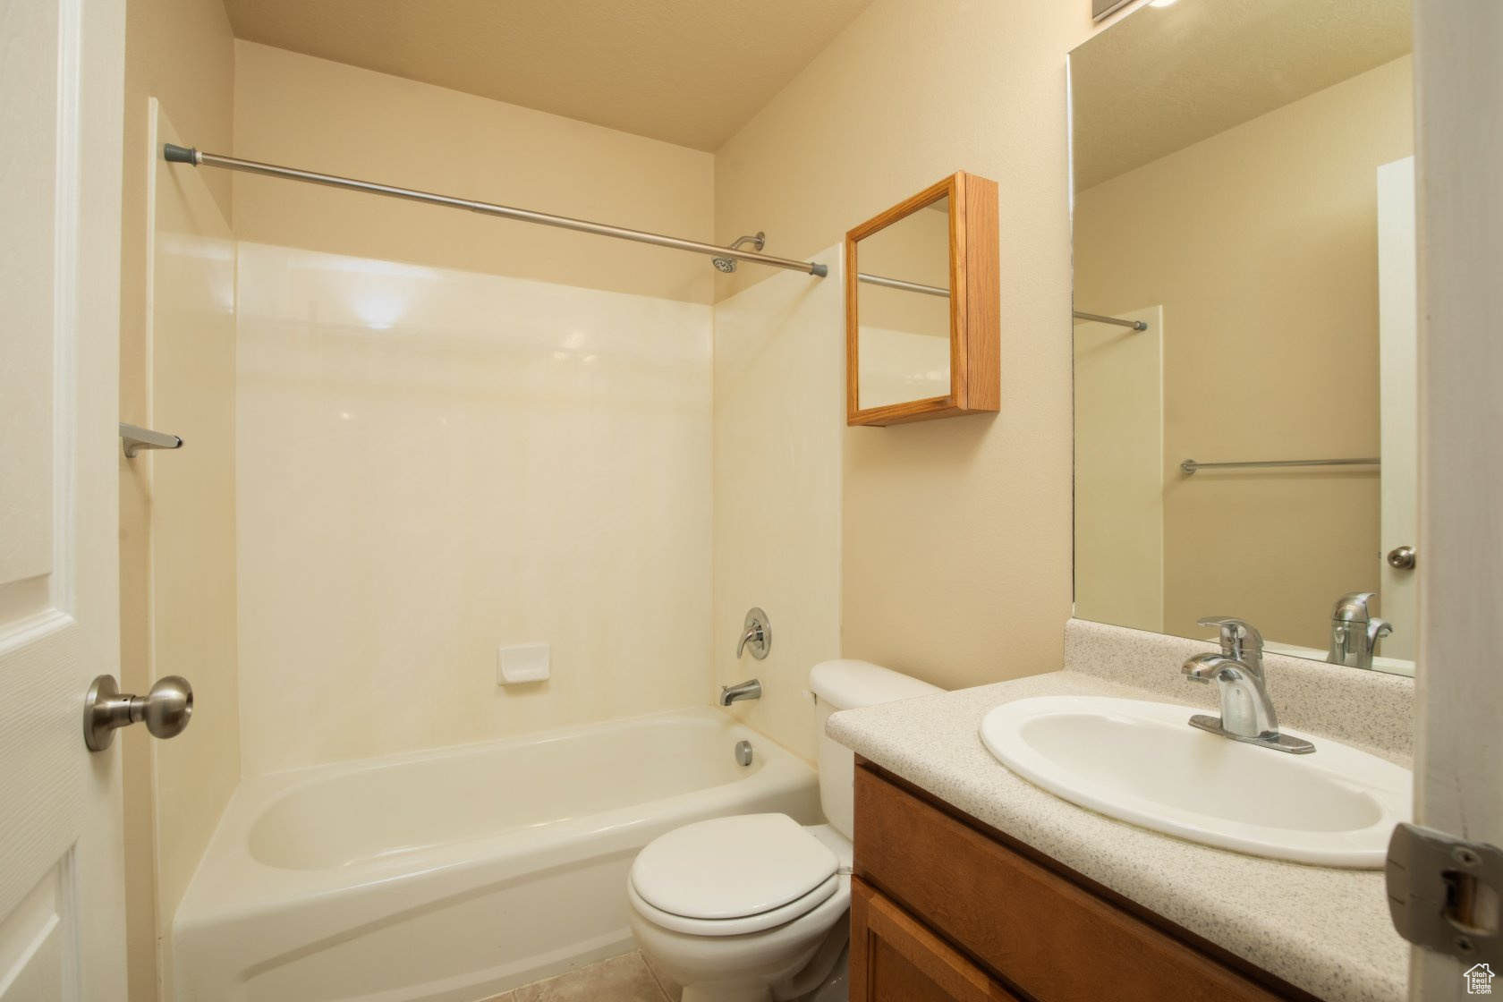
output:
{"label": "beige painted back wall strip between ceiling and shower surround panel", "polygon": [[[714,159],[559,116],[236,42],[234,155],[706,240]],[[358,192],[236,174],[257,243],[711,300],[703,257]]]}

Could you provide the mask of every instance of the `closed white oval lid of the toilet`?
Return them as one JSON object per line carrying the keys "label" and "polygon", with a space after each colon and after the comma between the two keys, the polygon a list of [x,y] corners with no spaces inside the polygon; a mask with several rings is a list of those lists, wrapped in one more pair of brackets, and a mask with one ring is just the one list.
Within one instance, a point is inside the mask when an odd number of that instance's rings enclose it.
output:
{"label": "closed white oval lid of the toilet", "polygon": [[631,864],[642,900],[670,915],[742,918],[797,901],[839,870],[788,814],[714,817],[652,840]]}

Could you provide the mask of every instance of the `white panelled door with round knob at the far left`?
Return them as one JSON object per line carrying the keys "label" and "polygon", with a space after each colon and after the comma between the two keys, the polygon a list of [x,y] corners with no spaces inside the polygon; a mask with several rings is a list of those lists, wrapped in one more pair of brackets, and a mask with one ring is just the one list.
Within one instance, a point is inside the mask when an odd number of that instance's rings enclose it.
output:
{"label": "white panelled door with round knob at the far left", "polygon": [[0,2],[0,1002],[125,997],[119,670],[123,0]]}

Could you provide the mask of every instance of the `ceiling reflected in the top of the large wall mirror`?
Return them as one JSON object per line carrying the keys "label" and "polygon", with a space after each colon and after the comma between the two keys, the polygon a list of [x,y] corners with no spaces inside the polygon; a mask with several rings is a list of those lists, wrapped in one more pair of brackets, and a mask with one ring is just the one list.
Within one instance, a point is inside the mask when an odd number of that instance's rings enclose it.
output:
{"label": "ceiling reflected in the top of the large wall mirror", "polygon": [[1408,0],[1180,0],[1070,53],[1085,191],[1408,53]]}

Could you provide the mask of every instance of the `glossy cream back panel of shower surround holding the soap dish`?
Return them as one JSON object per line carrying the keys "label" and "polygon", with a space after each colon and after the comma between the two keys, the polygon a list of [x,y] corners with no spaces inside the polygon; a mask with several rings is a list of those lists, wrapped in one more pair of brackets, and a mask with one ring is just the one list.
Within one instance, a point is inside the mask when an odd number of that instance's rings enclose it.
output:
{"label": "glossy cream back panel of shower surround holding the soap dish", "polygon": [[237,300],[245,775],[706,702],[708,305],[260,243]]}

